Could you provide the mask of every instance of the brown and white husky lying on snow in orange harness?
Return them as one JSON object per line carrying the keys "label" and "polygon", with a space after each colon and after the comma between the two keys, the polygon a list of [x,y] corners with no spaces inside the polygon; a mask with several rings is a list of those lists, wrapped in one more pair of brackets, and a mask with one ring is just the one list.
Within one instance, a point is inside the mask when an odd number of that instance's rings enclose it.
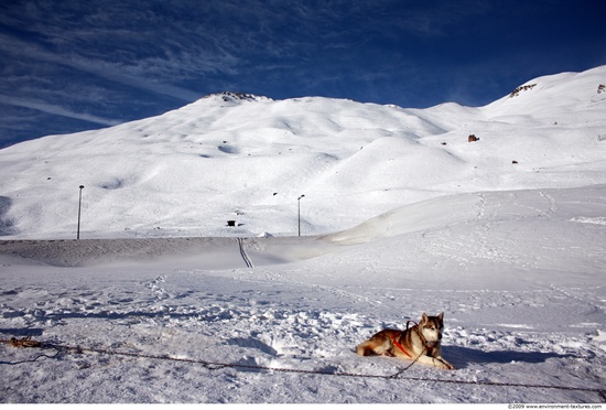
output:
{"label": "brown and white husky lying on snow in orange harness", "polygon": [[[414,323],[414,322],[413,322]],[[437,316],[423,313],[421,322],[405,331],[386,328],[375,334],[356,348],[360,356],[382,355],[419,362],[440,369],[454,370],[454,366],[442,358],[440,345],[444,331],[444,312]]]}

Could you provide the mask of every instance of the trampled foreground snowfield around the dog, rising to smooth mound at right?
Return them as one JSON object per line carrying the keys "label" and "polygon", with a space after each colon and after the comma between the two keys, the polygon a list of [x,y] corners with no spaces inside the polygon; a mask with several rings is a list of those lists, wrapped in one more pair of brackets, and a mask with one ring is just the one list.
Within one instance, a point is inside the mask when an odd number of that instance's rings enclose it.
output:
{"label": "trampled foreground snowfield around the dog, rising to smooth mound at right", "polygon": [[[0,241],[0,337],[74,348],[0,345],[0,399],[603,402],[605,191],[444,196],[240,249]],[[441,311],[455,371],[355,354],[381,327]]]}

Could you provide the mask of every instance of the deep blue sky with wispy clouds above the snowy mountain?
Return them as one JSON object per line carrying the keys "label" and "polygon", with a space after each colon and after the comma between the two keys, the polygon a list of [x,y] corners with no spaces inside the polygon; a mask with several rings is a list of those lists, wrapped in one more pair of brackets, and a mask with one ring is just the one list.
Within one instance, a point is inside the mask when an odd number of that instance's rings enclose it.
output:
{"label": "deep blue sky with wispy clouds above the snowy mountain", "polygon": [[606,64],[604,0],[4,0],[0,148],[210,93],[483,106]]}

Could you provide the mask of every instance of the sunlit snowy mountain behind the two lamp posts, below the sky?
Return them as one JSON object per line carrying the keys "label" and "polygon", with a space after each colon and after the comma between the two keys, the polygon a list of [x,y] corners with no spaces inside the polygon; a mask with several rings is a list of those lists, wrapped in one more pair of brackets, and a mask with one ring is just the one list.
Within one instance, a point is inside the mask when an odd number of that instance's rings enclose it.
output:
{"label": "sunlit snowy mountain behind the two lamp posts, below the sky", "polygon": [[[606,182],[606,68],[469,108],[212,95],[0,151],[0,235],[327,234],[453,193]],[[467,137],[475,134],[476,142]],[[234,219],[237,227],[226,228]]]}

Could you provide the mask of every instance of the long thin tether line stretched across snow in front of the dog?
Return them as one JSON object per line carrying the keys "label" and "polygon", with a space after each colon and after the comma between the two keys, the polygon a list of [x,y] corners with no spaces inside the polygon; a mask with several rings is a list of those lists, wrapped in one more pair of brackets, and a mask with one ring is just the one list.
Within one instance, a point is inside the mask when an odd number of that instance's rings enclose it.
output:
{"label": "long thin tether line stretched across snow in front of the dog", "polygon": [[[0,341],[0,342],[11,342],[11,341]],[[28,339],[28,342],[30,342],[30,339]],[[55,350],[57,350],[57,353],[54,356],[39,355],[35,359],[31,362],[35,362],[41,357],[55,358],[62,352],[67,352],[67,353],[75,352],[77,354],[98,353],[98,354],[115,355],[115,356],[128,356],[128,357],[158,359],[158,360],[171,360],[171,362],[199,364],[199,365],[203,365],[208,370],[219,370],[221,368],[229,367],[229,368],[246,368],[246,369],[270,370],[270,371],[279,371],[279,373],[322,375],[322,376],[343,376],[343,377],[376,378],[376,379],[392,379],[392,380],[409,380],[409,381],[431,381],[431,382],[454,384],[454,385],[478,385],[478,386],[496,386],[496,387],[556,389],[556,390],[570,390],[570,391],[589,391],[589,392],[596,392],[597,395],[599,395],[603,401],[606,401],[606,389],[594,389],[594,388],[587,388],[587,387],[571,387],[571,386],[529,385],[529,384],[504,382],[504,381],[477,381],[477,380],[439,379],[439,378],[428,378],[428,377],[401,376],[402,373],[404,370],[408,370],[411,366],[408,366],[404,369],[399,370],[393,375],[365,375],[365,374],[355,374],[355,373],[348,373],[348,371],[303,370],[303,369],[269,367],[269,366],[260,366],[260,365],[218,363],[218,362],[207,362],[202,359],[172,357],[169,355],[149,355],[143,353],[129,353],[129,352],[118,352],[118,350],[104,349],[104,348],[87,348],[87,347],[80,347],[80,346],[55,345],[55,344],[42,343],[42,342],[35,342],[35,341],[32,341],[32,342],[35,343],[35,346],[30,346],[31,348],[32,347],[54,348]],[[23,346],[28,347],[25,345]],[[18,362],[18,363],[0,362],[0,364],[17,365],[25,362],[26,360]]]}

